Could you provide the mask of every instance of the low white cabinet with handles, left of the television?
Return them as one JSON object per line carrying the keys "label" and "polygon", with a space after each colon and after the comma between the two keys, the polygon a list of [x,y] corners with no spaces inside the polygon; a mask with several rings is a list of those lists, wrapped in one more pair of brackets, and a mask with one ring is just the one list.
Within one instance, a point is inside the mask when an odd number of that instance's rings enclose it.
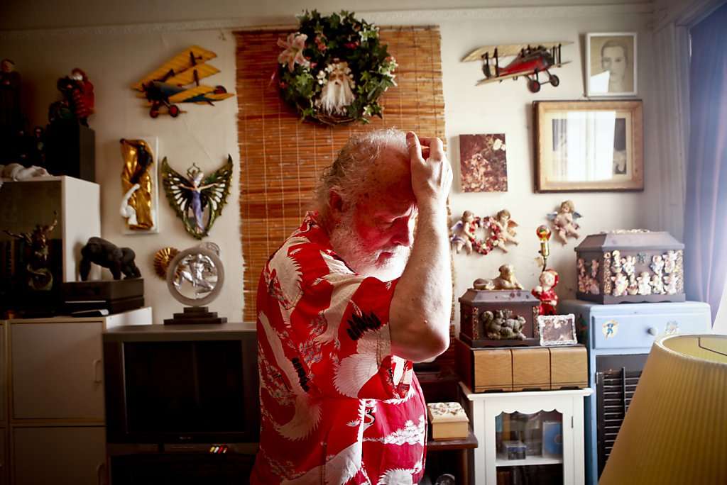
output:
{"label": "low white cabinet with handles, left of the television", "polygon": [[2,456],[9,458],[10,484],[108,484],[103,332],[152,321],[147,307],[109,317],[3,323],[7,345],[0,348],[8,358],[0,362],[7,362],[9,406],[1,420],[9,453]]}

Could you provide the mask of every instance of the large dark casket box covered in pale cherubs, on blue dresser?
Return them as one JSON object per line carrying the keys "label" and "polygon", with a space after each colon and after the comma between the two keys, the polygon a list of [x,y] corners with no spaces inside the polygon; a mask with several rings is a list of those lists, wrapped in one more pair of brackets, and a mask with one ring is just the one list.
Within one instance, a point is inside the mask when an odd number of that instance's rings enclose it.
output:
{"label": "large dark casket box covered in pale cherubs, on blue dresser", "polygon": [[576,248],[579,300],[685,301],[684,245],[645,229],[589,235]]}

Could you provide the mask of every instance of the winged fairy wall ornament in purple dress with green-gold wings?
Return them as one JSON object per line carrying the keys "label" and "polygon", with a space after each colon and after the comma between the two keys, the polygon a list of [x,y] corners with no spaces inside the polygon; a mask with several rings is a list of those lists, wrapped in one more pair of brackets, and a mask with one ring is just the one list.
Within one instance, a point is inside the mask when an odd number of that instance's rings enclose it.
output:
{"label": "winged fairy wall ornament in purple dress with green-gold wings", "polygon": [[166,157],[161,160],[166,198],[193,237],[205,237],[212,229],[214,220],[222,213],[230,195],[232,170],[230,155],[224,166],[206,177],[196,164],[188,168],[185,178],[166,163]]}

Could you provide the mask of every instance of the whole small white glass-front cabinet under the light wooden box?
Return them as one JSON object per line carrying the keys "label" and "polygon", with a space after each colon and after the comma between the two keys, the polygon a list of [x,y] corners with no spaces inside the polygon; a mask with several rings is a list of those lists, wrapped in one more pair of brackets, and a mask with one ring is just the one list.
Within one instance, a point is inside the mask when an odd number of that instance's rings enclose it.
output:
{"label": "whole small white glass-front cabinet under the light wooden box", "polygon": [[460,384],[479,447],[475,484],[583,484],[583,399],[590,389],[474,394]]}

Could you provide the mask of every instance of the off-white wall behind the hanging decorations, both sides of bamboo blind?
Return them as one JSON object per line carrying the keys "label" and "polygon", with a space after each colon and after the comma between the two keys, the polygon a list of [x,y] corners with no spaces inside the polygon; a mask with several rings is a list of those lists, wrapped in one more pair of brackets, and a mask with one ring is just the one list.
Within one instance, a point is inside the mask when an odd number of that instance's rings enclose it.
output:
{"label": "off-white wall behind the hanging decorations, both sides of bamboo blind", "polygon": [[[339,8],[341,3],[327,1],[326,5]],[[428,7],[429,3],[421,2],[422,7]],[[297,13],[297,9],[291,9],[289,13]],[[456,183],[451,209],[453,215],[470,209],[483,216],[494,214],[501,208],[510,209],[513,218],[520,224],[518,237],[521,245],[513,247],[507,256],[498,251],[489,256],[455,255],[456,296],[464,293],[475,278],[494,277],[497,267],[504,262],[515,264],[518,278],[526,288],[531,288],[539,272],[535,264],[539,246],[534,229],[546,222],[545,214],[566,198],[574,200],[577,210],[584,216],[581,219],[584,236],[607,229],[648,224],[649,209],[643,205],[643,200],[650,193],[659,191],[659,184],[650,182],[651,175],[658,171],[658,160],[648,157],[648,126],[654,122],[653,110],[648,104],[651,52],[651,34],[646,28],[651,17],[648,4],[646,7],[638,4],[630,7],[537,7],[466,12],[369,12],[365,17],[379,25],[441,25],[446,136],[456,176],[459,176],[459,134],[505,133],[507,136],[509,191],[502,194],[463,194]],[[228,22],[222,20],[220,25],[228,25]],[[233,156],[236,171],[229,203],[206,240],[221,246],[227,276],[222,295],[211,307],[236,321],[241,319],[243,304],[243,261],[239,241],[240,230],[244,231],[244,228],[238,227],[236,101],[230,99],[215,107],[185,106],[189,113],[180,118],[163,116],[152,120],[142,102],[129,89],[138,78],[190,44],[217,52],[219,57],[212,64],[222,73],[209,82],[225,85],[230,90],[234,88],[235,45],[230,30],[174,30],[177,28],[179,26],[166,29],[164,26],[142,26],[36,32],[32,35],[0,32],[0,39],[3,42],[2,56],[15,60],[17,70],[28,86],[24,97],[33,123],[45,122],[47,105],[58,98],[55,80],[72,68],[84,68],[95,84],[97,114],[92,116],[90,124],[97,137],[102,235],[117,245],[129,245],[137,252],[137,264],[145,276],[147,302],[154,307],[156,322],[170,317],[174,311],[180,311],[181,305],[169,296],[164,282],[153,275],[153,254],[166,245],[183,249],[197,241],[186,234],[163,193],[160,194],[161,230],[158,235],[121,234],[123,221],[118,215],[121,197],[119,139],[139,134],[159,136],[160,155],[168,157],[177,171],[186,170],[193,162],[206,171],[212,170],[222,164],[228,153]],[[640,97],[645,102],[646,193],[534,194],[531,102],[536,99],[584,99],[583,34],[631,30],[639,32],[638,83]],[[539,94],[531,94],[522,79],[475,87],[475,81],[481,77],[478,64],[459,62],[467,52],[484,44],[553,40],[574,41],[573,45],[563,48],[563,60],[572,62],[557,70],[561,86],[557,89],[543,86]],[[577,241],[565,247],[555,242],[551,245],[550,266],[561,273],[561,285],[558,287],[561,298],[574,296],[575,245]]]}

